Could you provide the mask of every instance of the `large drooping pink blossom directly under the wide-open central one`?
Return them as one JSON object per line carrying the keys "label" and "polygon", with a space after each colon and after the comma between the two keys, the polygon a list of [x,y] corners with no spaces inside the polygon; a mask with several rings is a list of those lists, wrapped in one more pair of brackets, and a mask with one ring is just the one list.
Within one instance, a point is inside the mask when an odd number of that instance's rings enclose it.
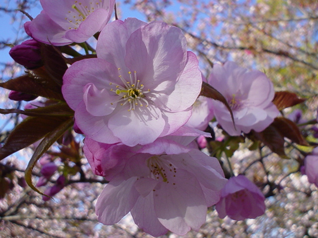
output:
{"label": "large drooping pink blossom directly under the wide-open central one", "polygon": [[106,174],[115,169],[96,203],[98,221],[112,225],[131,212],[135,223],[155,237],[168,230],[178,235],[198,231],[227,181],[218,160],[165,138],[134,149],[104,145],[106,153],[95,154]]}

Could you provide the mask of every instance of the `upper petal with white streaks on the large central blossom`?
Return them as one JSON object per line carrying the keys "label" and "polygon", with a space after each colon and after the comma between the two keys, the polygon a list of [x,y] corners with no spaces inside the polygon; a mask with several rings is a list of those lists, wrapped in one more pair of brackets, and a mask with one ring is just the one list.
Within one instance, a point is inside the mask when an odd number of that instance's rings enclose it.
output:
{"label": "upper petal with white streaks on the large central blossom", "polygon": [[[169,94],[186,63],[186,39],[176,27],[151,22],[127,40],[125,62],[148,88]],[[159,88],[162,82],[169,83]]]}

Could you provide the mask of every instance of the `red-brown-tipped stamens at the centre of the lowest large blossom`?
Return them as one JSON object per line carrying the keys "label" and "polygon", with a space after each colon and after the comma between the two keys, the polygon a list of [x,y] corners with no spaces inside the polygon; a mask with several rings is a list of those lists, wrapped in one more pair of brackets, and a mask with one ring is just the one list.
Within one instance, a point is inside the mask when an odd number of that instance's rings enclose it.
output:
{"label": "red-brown-tipped stamens at the centre of the lowest large blossom", "polygon": [[[172,164],[167,164],[166,160],[160,159],[159,156],[152,156],[147,161],[147,166],[152,173],[153,179],[162,179],[163,182],[169,183],[168,176],[175,177],[177,171]],[[175,185],[175,183],[172,183]]]}

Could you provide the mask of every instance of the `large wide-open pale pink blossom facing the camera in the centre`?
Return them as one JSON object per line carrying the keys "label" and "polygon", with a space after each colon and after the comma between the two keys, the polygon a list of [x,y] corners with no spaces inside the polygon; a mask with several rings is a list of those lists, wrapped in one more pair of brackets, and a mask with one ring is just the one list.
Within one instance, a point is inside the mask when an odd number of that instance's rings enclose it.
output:
{"label": "large wide-open pale pink blossom facing the camera in the centre", "polygon": [[163,22],[107,24],[97,58],[72,64],[64,75],[62,92],[79,129],[98,142],[129,146],[178,130],[202,84],[198,60],[186,48],[180,29]]}

